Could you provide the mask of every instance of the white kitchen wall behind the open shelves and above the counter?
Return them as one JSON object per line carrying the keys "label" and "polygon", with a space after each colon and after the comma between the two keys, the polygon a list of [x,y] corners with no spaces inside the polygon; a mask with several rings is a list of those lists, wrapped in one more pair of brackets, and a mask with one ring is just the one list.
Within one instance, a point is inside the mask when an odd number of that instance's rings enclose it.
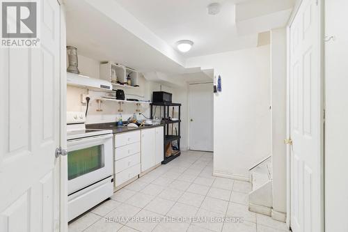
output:
{"label": "white kitchen wall behind the open shelves and above the counter", "polygon": [[[86,56],[79,55],[79,71],[81,75],[86,75],[93,78],[100,78],[99,73],[100,62],[94,59],[90,59]],[[144,100],[151,100],[152,91],[167,91],[169,93],[173,93],[173,102],[182,103],[182,111],[181,111],[181,134],[182,139],[180,140],[180,146],[182,150],[187,150],[189,148],[189,119],[188,119],[188,89],[187,86],[182,88],[174,88],[164,86],[155,82],[148,82],[142,75],[140,75],[139,79],[139,88],[125,88],[126,98],[138,98]],[[104,93],[95,92],[95,91],[87,91],[84,88],[77,88],[74,86],[68,86],[67,88],[67,110],[68,111],[86,111],[86,104],[81,103],[81,94],[88,93],[90,95],[90,105],[88,109],[88,115],[86,118],[87,124],[92,123],[110,123],[118,121],[118,117],[120,113],[118,112],[118,104],[116,102],[104,101],[102,103],[102,112],[97,110],[97,102],[93,100],[94,98],[98,98]],[[127,104],[122,105],[122,120],[126,121],[127,118],[136,113],[138,118],[143,118],[143,116],[139,116],[139,112],[136,112],[135,104]],[[150,116],[150,107],[149,105],[142,104],[141,113],[145,114],[145,116]],[[159,114],[157,114],[159,116]],[[175,109],[175,117],[177,117],[177,108]],[[174,127],[175,133],[175,127]]]}

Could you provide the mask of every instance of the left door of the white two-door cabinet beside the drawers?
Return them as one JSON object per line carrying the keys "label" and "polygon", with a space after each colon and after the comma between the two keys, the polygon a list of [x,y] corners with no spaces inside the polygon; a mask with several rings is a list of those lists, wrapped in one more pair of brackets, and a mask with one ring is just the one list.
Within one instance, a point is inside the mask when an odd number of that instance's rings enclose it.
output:
{"label": "left door of the white two-door cabinet beside the drawers", "polygon": [[156,128],[141,130],[141,171],[155,166]]}

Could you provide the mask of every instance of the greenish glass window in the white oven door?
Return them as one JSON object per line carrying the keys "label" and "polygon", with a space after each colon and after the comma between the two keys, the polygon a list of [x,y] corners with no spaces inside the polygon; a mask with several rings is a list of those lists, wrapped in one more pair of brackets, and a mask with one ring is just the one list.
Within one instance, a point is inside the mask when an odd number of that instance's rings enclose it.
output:
{"label": "greenish glass window in the white oven door", "polygon": [[104,145],[68,152],[68,180],[104,167]]}

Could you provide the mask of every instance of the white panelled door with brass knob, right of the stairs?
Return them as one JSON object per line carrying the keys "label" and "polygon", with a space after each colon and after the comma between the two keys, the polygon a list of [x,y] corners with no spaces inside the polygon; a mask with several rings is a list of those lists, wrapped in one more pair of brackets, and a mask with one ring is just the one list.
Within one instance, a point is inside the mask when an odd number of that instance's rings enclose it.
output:
{"label": "white panelled door with brass knob, right of the stairs", "polygon": [[290,26],[291,219],[294,232],[322,231],[320,6],[303,0]]}

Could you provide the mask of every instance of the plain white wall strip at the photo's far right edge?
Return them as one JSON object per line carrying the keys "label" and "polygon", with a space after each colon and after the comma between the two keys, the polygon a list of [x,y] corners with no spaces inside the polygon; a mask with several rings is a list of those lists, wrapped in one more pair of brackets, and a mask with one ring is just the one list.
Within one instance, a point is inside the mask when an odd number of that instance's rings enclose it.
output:
{"label": "plain white wall strip at the photo's far right edge", "polygon": [[348,231],[348,1],[325,1],[325,228]]}

